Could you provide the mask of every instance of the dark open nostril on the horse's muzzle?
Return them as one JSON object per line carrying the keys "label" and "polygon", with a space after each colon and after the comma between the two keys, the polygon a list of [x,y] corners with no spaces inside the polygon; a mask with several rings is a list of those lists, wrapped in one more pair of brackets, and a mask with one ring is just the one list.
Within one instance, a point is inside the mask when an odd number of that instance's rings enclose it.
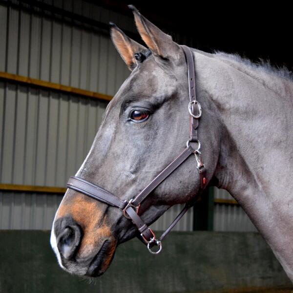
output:
{"label": "dark open nostril on the horse's muzzle", "polygon": [[81,242],[82,233],[80,227],[70,218],[60,219],[55,226],[57,247],[65,259],[73,258]]}

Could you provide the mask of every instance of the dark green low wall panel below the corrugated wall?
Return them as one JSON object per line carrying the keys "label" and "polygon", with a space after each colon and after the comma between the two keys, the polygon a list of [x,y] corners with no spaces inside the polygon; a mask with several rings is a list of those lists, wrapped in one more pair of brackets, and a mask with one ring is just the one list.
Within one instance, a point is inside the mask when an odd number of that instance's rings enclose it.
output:
{"label": "dark green low wall panel below the corrugated wall", "polygon": [[2,230],[0,292],[218,293],[291,286],[258,233],[172,232],[163,245],[159,255],[137,239],[119,246],[109,270],[90,283],[59,268],[48,231]]}

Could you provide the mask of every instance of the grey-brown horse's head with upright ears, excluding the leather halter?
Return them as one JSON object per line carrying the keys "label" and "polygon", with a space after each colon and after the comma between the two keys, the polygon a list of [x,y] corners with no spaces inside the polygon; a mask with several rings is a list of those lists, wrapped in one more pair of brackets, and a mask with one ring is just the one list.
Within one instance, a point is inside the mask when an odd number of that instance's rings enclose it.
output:
{"label": "grey-brown horse's head with upright ears, excluding the leather halter", "polygon": [[[129,200],[176,155],[189,137],[188,71],[184,51],[146,20],[134,6],[135,23],[147,47],[128,38],[111,23],[110,35],[131,71],[107,105],[91,149],[76,176]],[[200,100],[200,93],[198,93]],[[218,129],[205,101],[198,128],[207,183],[218,157]],[[144,200],[139,215],[151,224],[168,208],[199,193],[193,156]],[[78,275],[98,276],[109,266],[115,249],[137,234],[121,210],[67,189],[53,223],[51,245],[60,266]]]}

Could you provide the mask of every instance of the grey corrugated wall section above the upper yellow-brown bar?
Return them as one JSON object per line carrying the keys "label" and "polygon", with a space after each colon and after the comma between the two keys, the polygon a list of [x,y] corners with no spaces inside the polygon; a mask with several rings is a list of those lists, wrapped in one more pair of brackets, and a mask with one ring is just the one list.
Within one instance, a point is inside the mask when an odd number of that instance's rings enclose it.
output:
{"label": "grey corrugated wall section above the upper yellow-brown bar", "polygon": [[[54,1],[58,3],[105,23],[124,19],[83,1]],[[1,71],[108,95],[114,95],[130,73],[108,33],[4,5],[0,19]]]}

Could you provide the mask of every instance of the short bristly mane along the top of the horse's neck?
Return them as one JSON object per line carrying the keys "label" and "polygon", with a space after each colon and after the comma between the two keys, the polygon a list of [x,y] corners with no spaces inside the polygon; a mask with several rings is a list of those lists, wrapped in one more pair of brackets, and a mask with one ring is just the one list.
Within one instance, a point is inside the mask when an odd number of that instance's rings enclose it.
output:
{"label": "short bristly mane along the top of the horse's neck", "polygon": [[290,80],[291,82],[293,82],[293,72],[290,71],[285,65],[281,67],[273,66],[269,60],[264,60],[262,58],[259,58],[259,61],[255,63],[246,57],[241,57],[238,53],[230,54],[230,53],[225,53],[225,52],[217,51],[217,50],[215,50],[213,53],[221,59],[226,59],[226,60],[228,59],[238,63],[242,63],[255,70],[260,70],[268,74],[275,75],[280,78]]}

